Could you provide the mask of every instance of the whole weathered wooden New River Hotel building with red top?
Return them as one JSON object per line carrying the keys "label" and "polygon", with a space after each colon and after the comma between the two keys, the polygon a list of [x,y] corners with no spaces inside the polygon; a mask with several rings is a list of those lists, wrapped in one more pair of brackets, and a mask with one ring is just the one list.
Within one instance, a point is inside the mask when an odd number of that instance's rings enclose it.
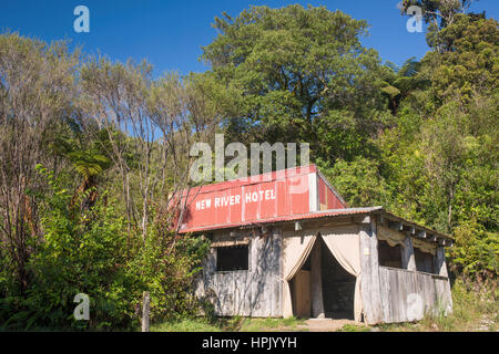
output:
{"label": "whole weathered wooden New River Hotel building with red top", "polygon": [[315,165],[193,188],[179,230],[211,240],[196,295],[221,316],[376,324],[451,311],[452,239],[383,207],[348,208]]}

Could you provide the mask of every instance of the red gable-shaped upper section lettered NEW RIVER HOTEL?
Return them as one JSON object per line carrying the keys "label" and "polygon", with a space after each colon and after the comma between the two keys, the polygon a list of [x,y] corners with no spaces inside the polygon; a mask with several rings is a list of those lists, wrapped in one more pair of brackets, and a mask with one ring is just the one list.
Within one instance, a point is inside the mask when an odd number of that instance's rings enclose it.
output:
{"label": "red gable-shaped upper section lettered NEW RIVER HOTEL", "polygon": [[315,165],[193,187],[179,196],[185,204],[182,233],[347,208]]}

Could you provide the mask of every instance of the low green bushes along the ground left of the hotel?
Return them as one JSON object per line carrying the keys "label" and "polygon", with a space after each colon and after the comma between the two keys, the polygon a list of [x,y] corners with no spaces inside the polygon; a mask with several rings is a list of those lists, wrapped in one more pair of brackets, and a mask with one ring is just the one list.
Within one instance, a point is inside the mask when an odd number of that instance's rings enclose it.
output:
{"label": "low green bushes along the ground left of the hotel", "polygon": [[[3,329],[134,330],[143,291],[151,292],[152,321],[197,313],[191,290],[207,250],[205,241],[176,236],[157,217],[143,243],[133,228],[128,235],[126,221],[105,191],[91,208],[81,208],[62,188],[62,177],[41,167],[39,171],[50,186],[45,197],[37,196],[43,205],[44,239],[29,261],[32,281],[26,294],[2,294]],[[9,277],[1,270],[3,284]],[[73,316],[78,293],[89,295],[90,321]]]}

